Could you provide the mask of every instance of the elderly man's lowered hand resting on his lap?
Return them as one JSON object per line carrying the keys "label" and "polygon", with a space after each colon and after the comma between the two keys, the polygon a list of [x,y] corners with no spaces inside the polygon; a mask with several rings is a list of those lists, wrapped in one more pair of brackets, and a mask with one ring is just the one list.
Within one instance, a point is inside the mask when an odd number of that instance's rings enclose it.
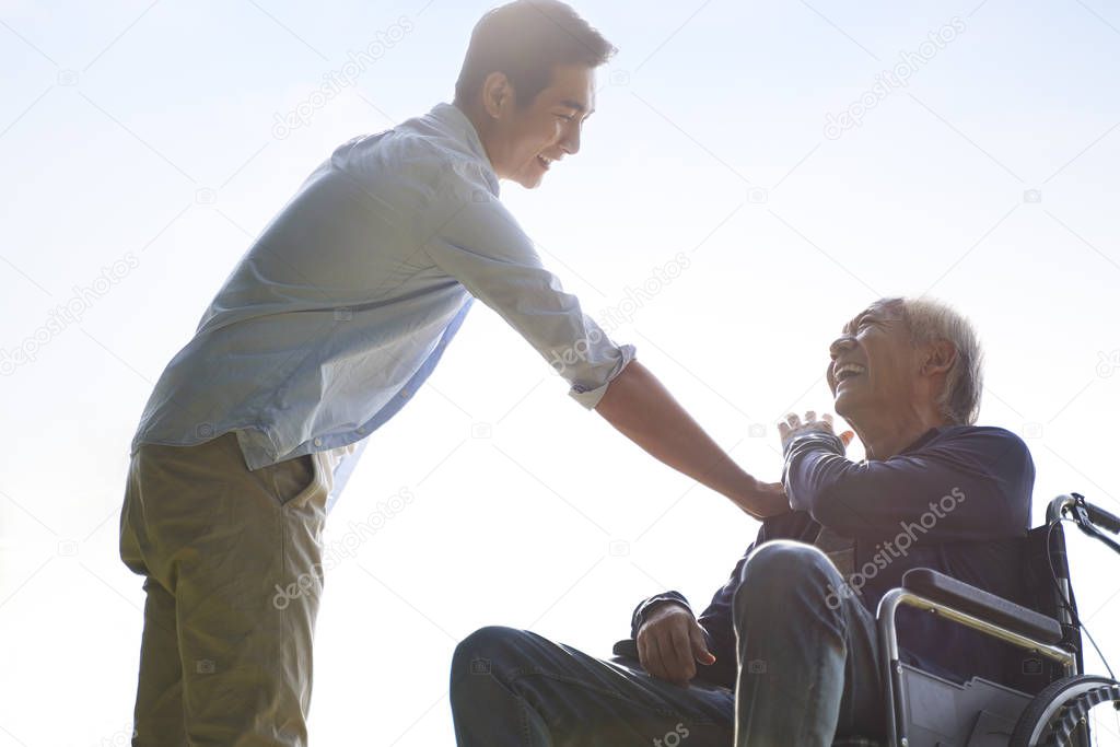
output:
{"label": "elderly man's lowered hand resting on his lap", "polygon": [[637,655],[646,672],[680,685],[697,675],[697,662],[716,662],[692,613],[674,601],[650,611],[637,632]]}

